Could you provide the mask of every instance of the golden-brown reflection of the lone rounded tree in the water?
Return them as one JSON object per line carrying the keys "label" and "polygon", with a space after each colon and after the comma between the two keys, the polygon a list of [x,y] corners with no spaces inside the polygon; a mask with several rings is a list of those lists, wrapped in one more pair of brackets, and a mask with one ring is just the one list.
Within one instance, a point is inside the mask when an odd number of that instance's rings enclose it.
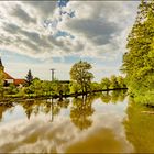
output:
{"label": "golden-brown reflection of the lone rounded tree in the water", "polygon": [[95,111],[91,107],[92,102],[94,98],[91,96],[73,99],[70,118],[72,122],[80,130],[88,129],[92,124],[92,120],[89,118]]}

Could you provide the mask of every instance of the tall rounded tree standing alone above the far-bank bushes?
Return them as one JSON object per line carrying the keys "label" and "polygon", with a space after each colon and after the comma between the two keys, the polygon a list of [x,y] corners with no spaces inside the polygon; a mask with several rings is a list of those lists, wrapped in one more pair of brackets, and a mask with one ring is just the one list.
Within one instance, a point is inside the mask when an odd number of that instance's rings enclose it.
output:
{"label": "tall rounded tree standing alone above the far-bank bushes", "polygon": [[79,61],[70,69],[70,79],[80,85],[82,92],[90,89],[91,79],[94,78],[92,73],[89,72],[92,66],[89,63]]}

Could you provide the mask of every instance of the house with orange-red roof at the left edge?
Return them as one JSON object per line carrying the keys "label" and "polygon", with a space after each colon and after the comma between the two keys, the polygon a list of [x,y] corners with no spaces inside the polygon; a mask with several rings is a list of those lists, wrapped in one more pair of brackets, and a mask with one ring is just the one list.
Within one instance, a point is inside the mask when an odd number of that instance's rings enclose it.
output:
{"label": "house with orange-red roof at the left edge", "polygon": [[15,79],[11,75],[4,72],[4,66],[2,65],[1,58],[0,58],[0,70],[4,74],[4,86],[9,86],[10,84],[14,84],[15,86],[24,85],[26,82],[25,79]]}

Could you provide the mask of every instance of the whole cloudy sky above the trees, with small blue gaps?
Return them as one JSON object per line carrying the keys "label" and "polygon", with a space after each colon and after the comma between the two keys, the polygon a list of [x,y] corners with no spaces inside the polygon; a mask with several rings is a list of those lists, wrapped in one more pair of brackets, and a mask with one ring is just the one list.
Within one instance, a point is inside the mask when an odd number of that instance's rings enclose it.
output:
{"label": "whole cloudy sky above the trees, with small blue gaps", "polygon": [[139,1],[1,1],[0,55],[6,72],[23,78],[69,79],[79,59],[92,65],[95,80],[119,75],[127,36]]}

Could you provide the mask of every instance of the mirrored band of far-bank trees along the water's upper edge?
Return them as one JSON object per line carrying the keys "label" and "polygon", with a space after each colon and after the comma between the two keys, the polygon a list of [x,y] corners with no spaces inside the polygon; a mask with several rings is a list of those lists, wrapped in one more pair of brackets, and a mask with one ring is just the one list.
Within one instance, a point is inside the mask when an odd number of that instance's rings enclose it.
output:
{"label": "mirrored band of far-bank trees along the water's upper edge", "polygon": [[[73,123],[78,127],[80,130],[88,129],[92,124],[90,116],[94,114],[95,109],[92,108],[92,102],[101,98],[102,102],[116,103],[118,101],[123,101],[127,96],[125,90],[112,91],[112,92],[102,92],[90,95],[88,97],[78,97],[73,98],[73,103],[70,108],[70,118]],[[37,116],[41,112],[45,114],[51,114],[51,121],[54,121],[54,117],[58,116],[62,109],[67,109],[69,106],[70,99],[47,99],[47,100],[23,100],[18,102],[20,105],[26,118],[30,119],[32,114]],[[13,102],[0,103],[0,121],[2,120],[3,113],[13,107]]]}

